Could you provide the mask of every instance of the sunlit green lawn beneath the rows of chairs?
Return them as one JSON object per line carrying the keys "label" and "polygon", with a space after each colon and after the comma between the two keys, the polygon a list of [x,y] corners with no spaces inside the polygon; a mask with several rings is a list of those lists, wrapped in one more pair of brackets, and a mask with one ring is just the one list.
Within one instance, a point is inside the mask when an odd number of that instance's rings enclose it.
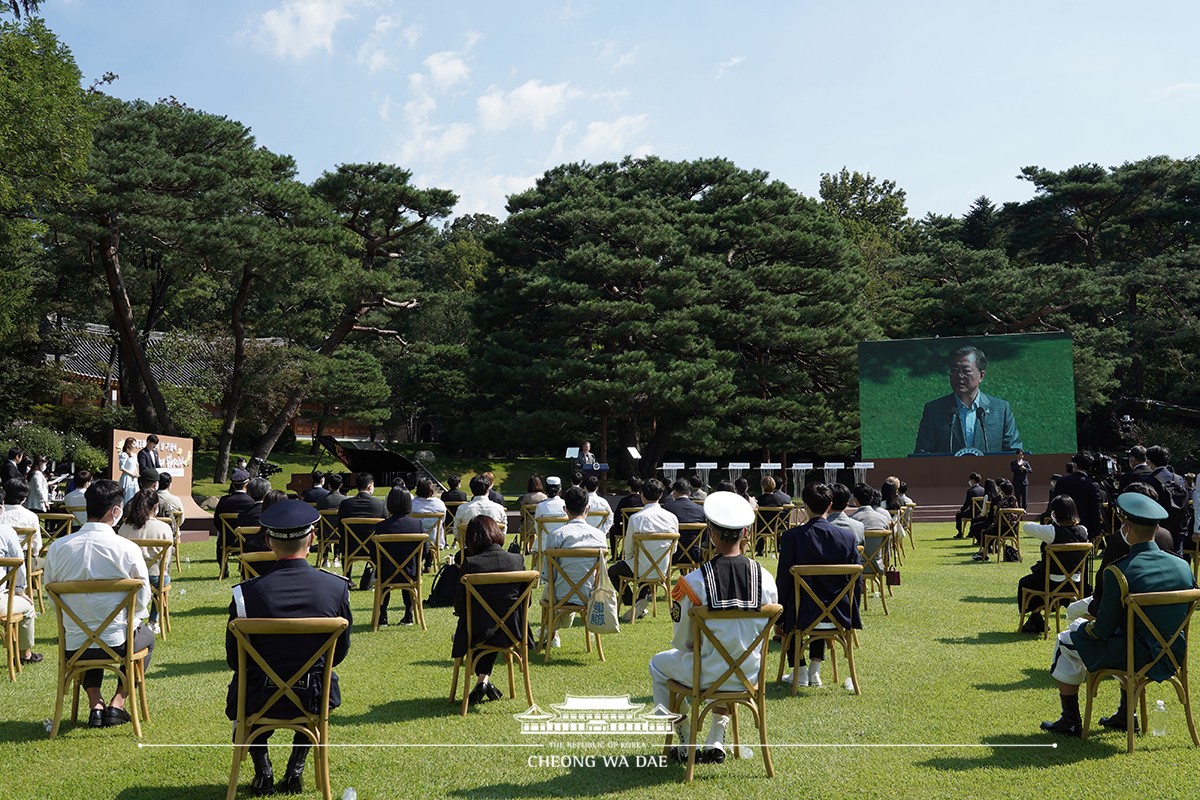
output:
{"label": "sunlit green lawn beneath the rows of chairs", "polygon": [[[970,549],[949,534],[949,524],[918,524],[918,548],[905,565],[892,614],[883,616],[877,603],[865,614],[857,656],[862,697],[833,685],[828,662],[824,688],[800,690],[791,698],[772,686],[767,712],[775,780],[766,777],[761,759],[700,765],[689,796],[1182,798],[1200,790],[1182,710],[1162,686],[1152,688],[1151,702],[1168,700],[1168,735],[1141,738],[1133,756],[1123,752],[1123,734],[1097,732],[1084,742],[1038,730],[1038,721],[1057,715],[1058,703],[1046,674],[1050,643],[1013,633],[1015,582],[1027,567],[974,564]],[[211,541],[185,545],[184,555],[191,563],[175,577],[174,630],[160,642],[149,673],[152,720],[143,744],[162,746],[139,748],[128,726],[90,730],[65,723],[56,741],[47,739],[43,720],[53,710],[55,669],[47,616],[38,621],[46,662],[26,668],[17,682],[0,685],[7,796],[224,796],[230,727],[223,714],[229,679],[223,627],[230,584],[214,578]],[[770,559],[764,563],[773,566]],[[661,798],[682,780],[677,765],[636,768],[635,756],[659,752],[656,738],[522,736],[512,717],[524,710],[520,693],[520,699],[458,716],[448,700],[450,610],[428,609],[426,632],[389,627],[371,633],[370,595],[353,591],[350,597],[354,639],[338,668],[344,704],[330,729],[335,744],[364,746],[331,752],[335,798],[346,787],[355,787],[364,800]],[[581,628],[565,631],[550,664],[534,658],[535,699],[544,709],[562,703],[568,692],[629,693],[634,702],[648,703],[647,660],[670,637],[661,604],[658,619],[626,626],[606,640],[604,663],[584,654]],[[769,662],[772,674],[776,658],[778,652]],[[110,681],[106,679],[106,690]],[[1115,684],[1105,686],[1102,699],[1100,710],[1110,711]],[[746,723],[743,732],[750,730]],[[625,754],[630,766],[605,768],[600,758],[594,768],[527,764],[530,756],[587,754]],[[284,748],[272,748],[272,757],[278,770]],[[244,782],[248,762],[245,769]],[[310,765],[305,796],[316,796],[311,776]]]}

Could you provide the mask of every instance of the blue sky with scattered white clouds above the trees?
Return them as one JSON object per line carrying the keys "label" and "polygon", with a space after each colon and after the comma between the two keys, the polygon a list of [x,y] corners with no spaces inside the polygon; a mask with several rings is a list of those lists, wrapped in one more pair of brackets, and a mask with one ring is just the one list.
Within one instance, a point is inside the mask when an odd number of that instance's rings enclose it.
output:
{"label": "blue sky with scattered white clouds above the trees", "polygon": [[709,156],[913,216],[1024,200],[1021,167],[1196,155],[1200,4],[46,0],[85,80],[248,125],[311,181],[385,161],[456,213],[565,162]]}

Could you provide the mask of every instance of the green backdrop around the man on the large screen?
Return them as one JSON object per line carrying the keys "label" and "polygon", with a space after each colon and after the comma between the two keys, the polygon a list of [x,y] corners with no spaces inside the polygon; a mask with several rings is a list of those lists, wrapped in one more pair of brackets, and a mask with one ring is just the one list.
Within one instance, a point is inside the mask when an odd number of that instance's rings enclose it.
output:
{"label": "green backdrop around the man on the large screen", "polygon": [[947,359],[966,344],[988,356],[979,391],[1013,407],[1026,452],[1075,452],[1070,335],[1012,333],[862,342],[858,402],[863,458],[912,453],[925,403],[950,393]]}

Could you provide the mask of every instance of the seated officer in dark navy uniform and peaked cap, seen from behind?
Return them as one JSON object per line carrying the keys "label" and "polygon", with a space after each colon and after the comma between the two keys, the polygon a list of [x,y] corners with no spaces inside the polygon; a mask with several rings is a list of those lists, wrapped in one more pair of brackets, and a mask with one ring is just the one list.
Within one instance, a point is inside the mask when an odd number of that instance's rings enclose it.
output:
{"label": "seated officer in dark navy uniform and peaked cap, seen from behind", "polygon": [[[233,588],[233,602],[229,603],[229,619],[266,618],[288,619],[305,616],[350,618],[349,584],[346,579],[322,572],[308,564],[308,548],[312,546],[313,531],[317,524],[317,510],[302,500],[283,500],[263,512],[262,522],[268,533],[271,551],[278,558],[275,567],[266,575],[239,583]],[[290,676],[312,656],[313,648],[308,642],[312,637],[270,636],[256,642],[254,646],[280,675]],[[350,628],[347,626],[337,639],[334,649],[334,663],[318,661],[308,673],[307,687],[298,687],[301,699],[313,706],[319,699],[320,685],[325,669],[332,669],[346,658],[350,649]],[[226,699],[226,716],[238,717],[238,644],[233,632],[226,632],[226,662],[234,670]],[[269,685],[266,674],[251,661],[246,666],[246,710],[256,712],[262,709],[275,687]],[[342,704],[342,693],[337,674],[331,678],[329,690],[329,708]],[[272,716],[295,714],[295,706],[287,699],[278,702],[280,710]],[[250,756],[254,763],[254,781],[251,788],[256,795],[299,794],[304,783],[304,765],[312,746],[307,736],[296,733],[292,740],[292,758],[288,759],[283,778],[275,783],[271,759],[266,752],[266,741],[271,738],[265,733],[254,740]]]}

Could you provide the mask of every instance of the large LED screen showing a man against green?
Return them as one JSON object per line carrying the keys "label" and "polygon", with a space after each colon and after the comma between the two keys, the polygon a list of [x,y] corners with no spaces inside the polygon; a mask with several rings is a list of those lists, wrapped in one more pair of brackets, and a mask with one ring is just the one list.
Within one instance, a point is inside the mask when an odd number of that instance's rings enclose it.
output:
{"label": "large LED screen showing a man against green", "polygon": [[1068,333],[858,345],[863,458],[1075,452]]}

